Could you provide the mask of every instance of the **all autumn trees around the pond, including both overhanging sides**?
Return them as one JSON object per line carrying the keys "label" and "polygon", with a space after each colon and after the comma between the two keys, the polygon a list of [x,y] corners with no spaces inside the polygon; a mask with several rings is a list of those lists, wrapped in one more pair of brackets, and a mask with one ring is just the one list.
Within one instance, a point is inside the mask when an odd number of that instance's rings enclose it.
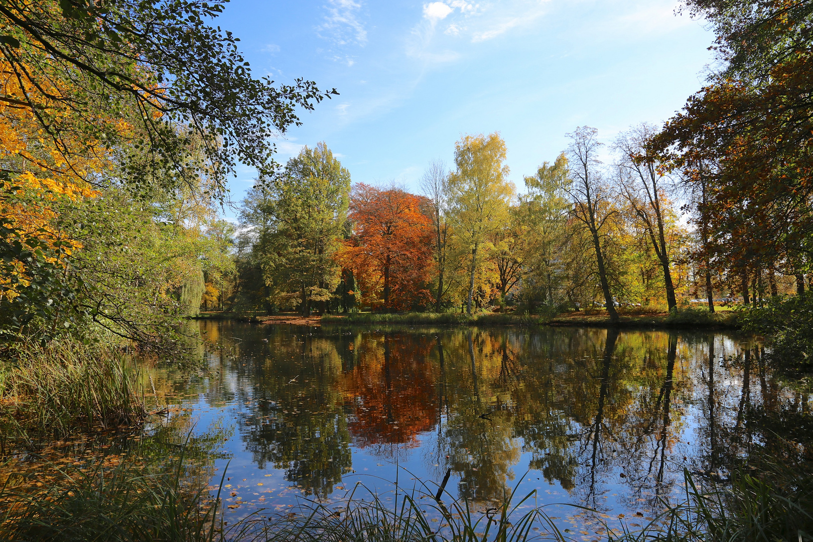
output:
{"label": "all autumn trees around the pond, including both overhanging sides", "polygon": [[[780,300],[810,287],[813,5],[747,3],[685,6],[720,69],[662,127],[604,145],[574,128],[519,187],[498,133],[466,135],[409,193],[354,184],[325,143],[277,163],[274,137],[336,91],[254,78],[207,24],[220,5],[5,2],[3,340],[172,348],[199,310],[615,320],[715,299],[782,327]],[[259,176],[235,225],[237,163]]]}

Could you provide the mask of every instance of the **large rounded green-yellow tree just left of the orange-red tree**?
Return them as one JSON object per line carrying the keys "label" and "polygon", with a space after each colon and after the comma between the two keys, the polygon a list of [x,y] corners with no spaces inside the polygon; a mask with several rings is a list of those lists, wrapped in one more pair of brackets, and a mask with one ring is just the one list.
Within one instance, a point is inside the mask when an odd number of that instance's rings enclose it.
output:
{"label": "large rounded green-yellow tree just left of the orange-red tree", "polygon": [[260,180],[244,200],[252,252],[280,306],[309,314],[333,295],[350,200],[350,172],[324,143],[303,148],[285,171]]}

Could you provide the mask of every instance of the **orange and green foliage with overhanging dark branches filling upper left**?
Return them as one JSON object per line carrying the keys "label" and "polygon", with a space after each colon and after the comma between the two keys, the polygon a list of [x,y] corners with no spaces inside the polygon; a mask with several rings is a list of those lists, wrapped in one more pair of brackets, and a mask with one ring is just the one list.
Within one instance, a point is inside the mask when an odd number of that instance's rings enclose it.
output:
{"label": "orange and green foliage with overhanging dark branches filling upper left", "polygon": [[208,23],[222,9],[2,2],[3,215],[25,206],[44,220],[33,229],[4,220],[0,257],[41,254],[33,267],[53,268],[14,285],[18,305],[2,314],[15,315],[15,331],[103,327],[168,345],[182,307],[197,310],[196,284],[216,256],[206,226],[188,219],[209,220],[203,207],[225,196],[238,161],[275,171],[273,137],[299,122],[298,107],[327,96],[303,80],[255,79],[237,38]]}

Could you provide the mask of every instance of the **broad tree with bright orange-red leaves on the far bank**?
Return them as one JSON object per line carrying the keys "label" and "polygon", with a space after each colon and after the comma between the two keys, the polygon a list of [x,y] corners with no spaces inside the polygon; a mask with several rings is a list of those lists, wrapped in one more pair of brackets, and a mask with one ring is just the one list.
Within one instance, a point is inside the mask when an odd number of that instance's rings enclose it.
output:
{"label": "broad tree with bright orange-red leaves on the far bank", "polygon": [[431,300],[432,220],[427,199],[402,189],[354,186],[350,196],[353,235],[341,262],[354,272],[362,303],[408,310]]}

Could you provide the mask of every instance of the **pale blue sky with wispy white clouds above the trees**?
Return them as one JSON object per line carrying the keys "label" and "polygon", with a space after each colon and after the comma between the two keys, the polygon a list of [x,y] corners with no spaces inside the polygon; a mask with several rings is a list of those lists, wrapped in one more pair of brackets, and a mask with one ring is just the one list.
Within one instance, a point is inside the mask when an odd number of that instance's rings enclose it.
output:
{"label": "pale blue sky with wispy white clouds above the trees", "polygon": [[[255,76],[339,96],[303,111],[280,159],[325,141],[354,182],[418,190],[454,141],[498,131],[511,180],[552,161],[580,125],[603,141],[655,124],[702,86],[712,34],[676,0],[232,0],[217,21]],[[241,168],[233,201],[254,171]],[[227,210],[227,216],[233,216]]]}

